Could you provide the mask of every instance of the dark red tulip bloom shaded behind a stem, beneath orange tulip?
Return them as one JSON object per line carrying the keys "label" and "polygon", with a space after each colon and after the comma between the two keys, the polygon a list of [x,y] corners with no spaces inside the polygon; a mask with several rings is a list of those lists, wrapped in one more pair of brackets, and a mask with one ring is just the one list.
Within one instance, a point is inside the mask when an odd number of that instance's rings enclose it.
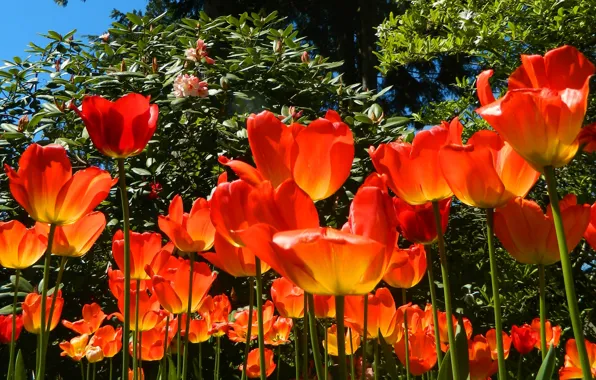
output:
{"label": "dark red tulip bloom shaded behind a stem, beneath orange tulip", "polygon": [[[397,230],[406,240],[419,244],[432,244],[437,241],[432,203],[412,206],[398,197],[393,197],[393,208],[397,217]],[[447,229],[450,208],[451,198],[439,202],[443,232]]]}

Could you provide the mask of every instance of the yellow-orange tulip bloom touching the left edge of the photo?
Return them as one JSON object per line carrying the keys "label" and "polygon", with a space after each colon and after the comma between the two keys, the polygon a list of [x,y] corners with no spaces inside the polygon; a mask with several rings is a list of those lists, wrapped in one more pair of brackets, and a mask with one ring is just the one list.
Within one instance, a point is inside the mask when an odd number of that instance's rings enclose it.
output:
{"label": "yellow-orange tulip bloom touching the left edge of the photo", "polygon": [[43,225],[27,229],[21,222],[0,222],[0,266],[25,269],[35,264],[48,245]]}

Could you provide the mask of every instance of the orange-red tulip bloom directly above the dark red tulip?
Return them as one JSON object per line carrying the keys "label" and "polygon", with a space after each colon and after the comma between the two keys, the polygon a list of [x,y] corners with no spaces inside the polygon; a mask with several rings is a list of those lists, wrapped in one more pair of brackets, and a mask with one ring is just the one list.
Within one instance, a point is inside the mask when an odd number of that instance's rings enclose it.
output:
{"label": "orange-red tulip bloom directly above the dark red tulip", "polygon": [[448,143],[461,144],[461,124],[454,119],[421,131],[414,141],[395,141],[368,150],[377,172],[387,176],[387,185],[412,205],[441,201],[453,195],[439,166],[439,149]]}

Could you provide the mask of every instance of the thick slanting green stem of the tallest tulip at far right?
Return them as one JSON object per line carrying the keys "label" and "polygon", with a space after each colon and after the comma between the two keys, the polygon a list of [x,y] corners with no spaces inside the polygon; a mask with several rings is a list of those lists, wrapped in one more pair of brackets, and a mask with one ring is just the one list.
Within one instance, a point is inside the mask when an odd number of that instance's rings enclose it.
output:
{"label": "thick slanting green stem of the tallest tulip at far right", "polygon": [[550,197],[550,205],[553,212],[553,221],[555,231],[557,232],[557,241],[559,243],[559,254],[561,255],[561,269],[563,270],[563,280],[565,282],[565,293],[567,295],[567,306],[569,316],[571,317],[571,326],[573,335],[577,344],[577,353],[582,367],[582,376],[584,379],[591,379],[590,361],[584,342],[584,331],[580,319],[579,307],[577,305],[577,296],[575,294],[575,285],[573,283],[573,268],[569,258],[567,240],[565,239],[565,229],[563,228],[563,219],[561,218],[561,208],[559,206],[559,195],[557,194],[557,179],[555,178],[555,169],[552,166],[544,167],[544,177]]}

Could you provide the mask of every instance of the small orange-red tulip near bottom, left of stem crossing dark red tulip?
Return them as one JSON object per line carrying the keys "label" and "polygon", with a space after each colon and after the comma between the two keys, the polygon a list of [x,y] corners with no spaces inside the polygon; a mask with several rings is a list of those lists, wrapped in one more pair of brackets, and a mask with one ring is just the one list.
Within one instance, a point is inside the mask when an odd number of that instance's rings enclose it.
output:
{"label": "small orange-red tulip near bottom, left of stem crossing dark red tulip", "polygon": [[[395,343],[395,353],[399,361],[406,363],[406,344],[402,337]],[[408,335],[408,361],[410,373],[414,376],[421,376],[430,371],[437,364],[437,351],[435,349],[435,338],[432,334],[423,330]]]}

